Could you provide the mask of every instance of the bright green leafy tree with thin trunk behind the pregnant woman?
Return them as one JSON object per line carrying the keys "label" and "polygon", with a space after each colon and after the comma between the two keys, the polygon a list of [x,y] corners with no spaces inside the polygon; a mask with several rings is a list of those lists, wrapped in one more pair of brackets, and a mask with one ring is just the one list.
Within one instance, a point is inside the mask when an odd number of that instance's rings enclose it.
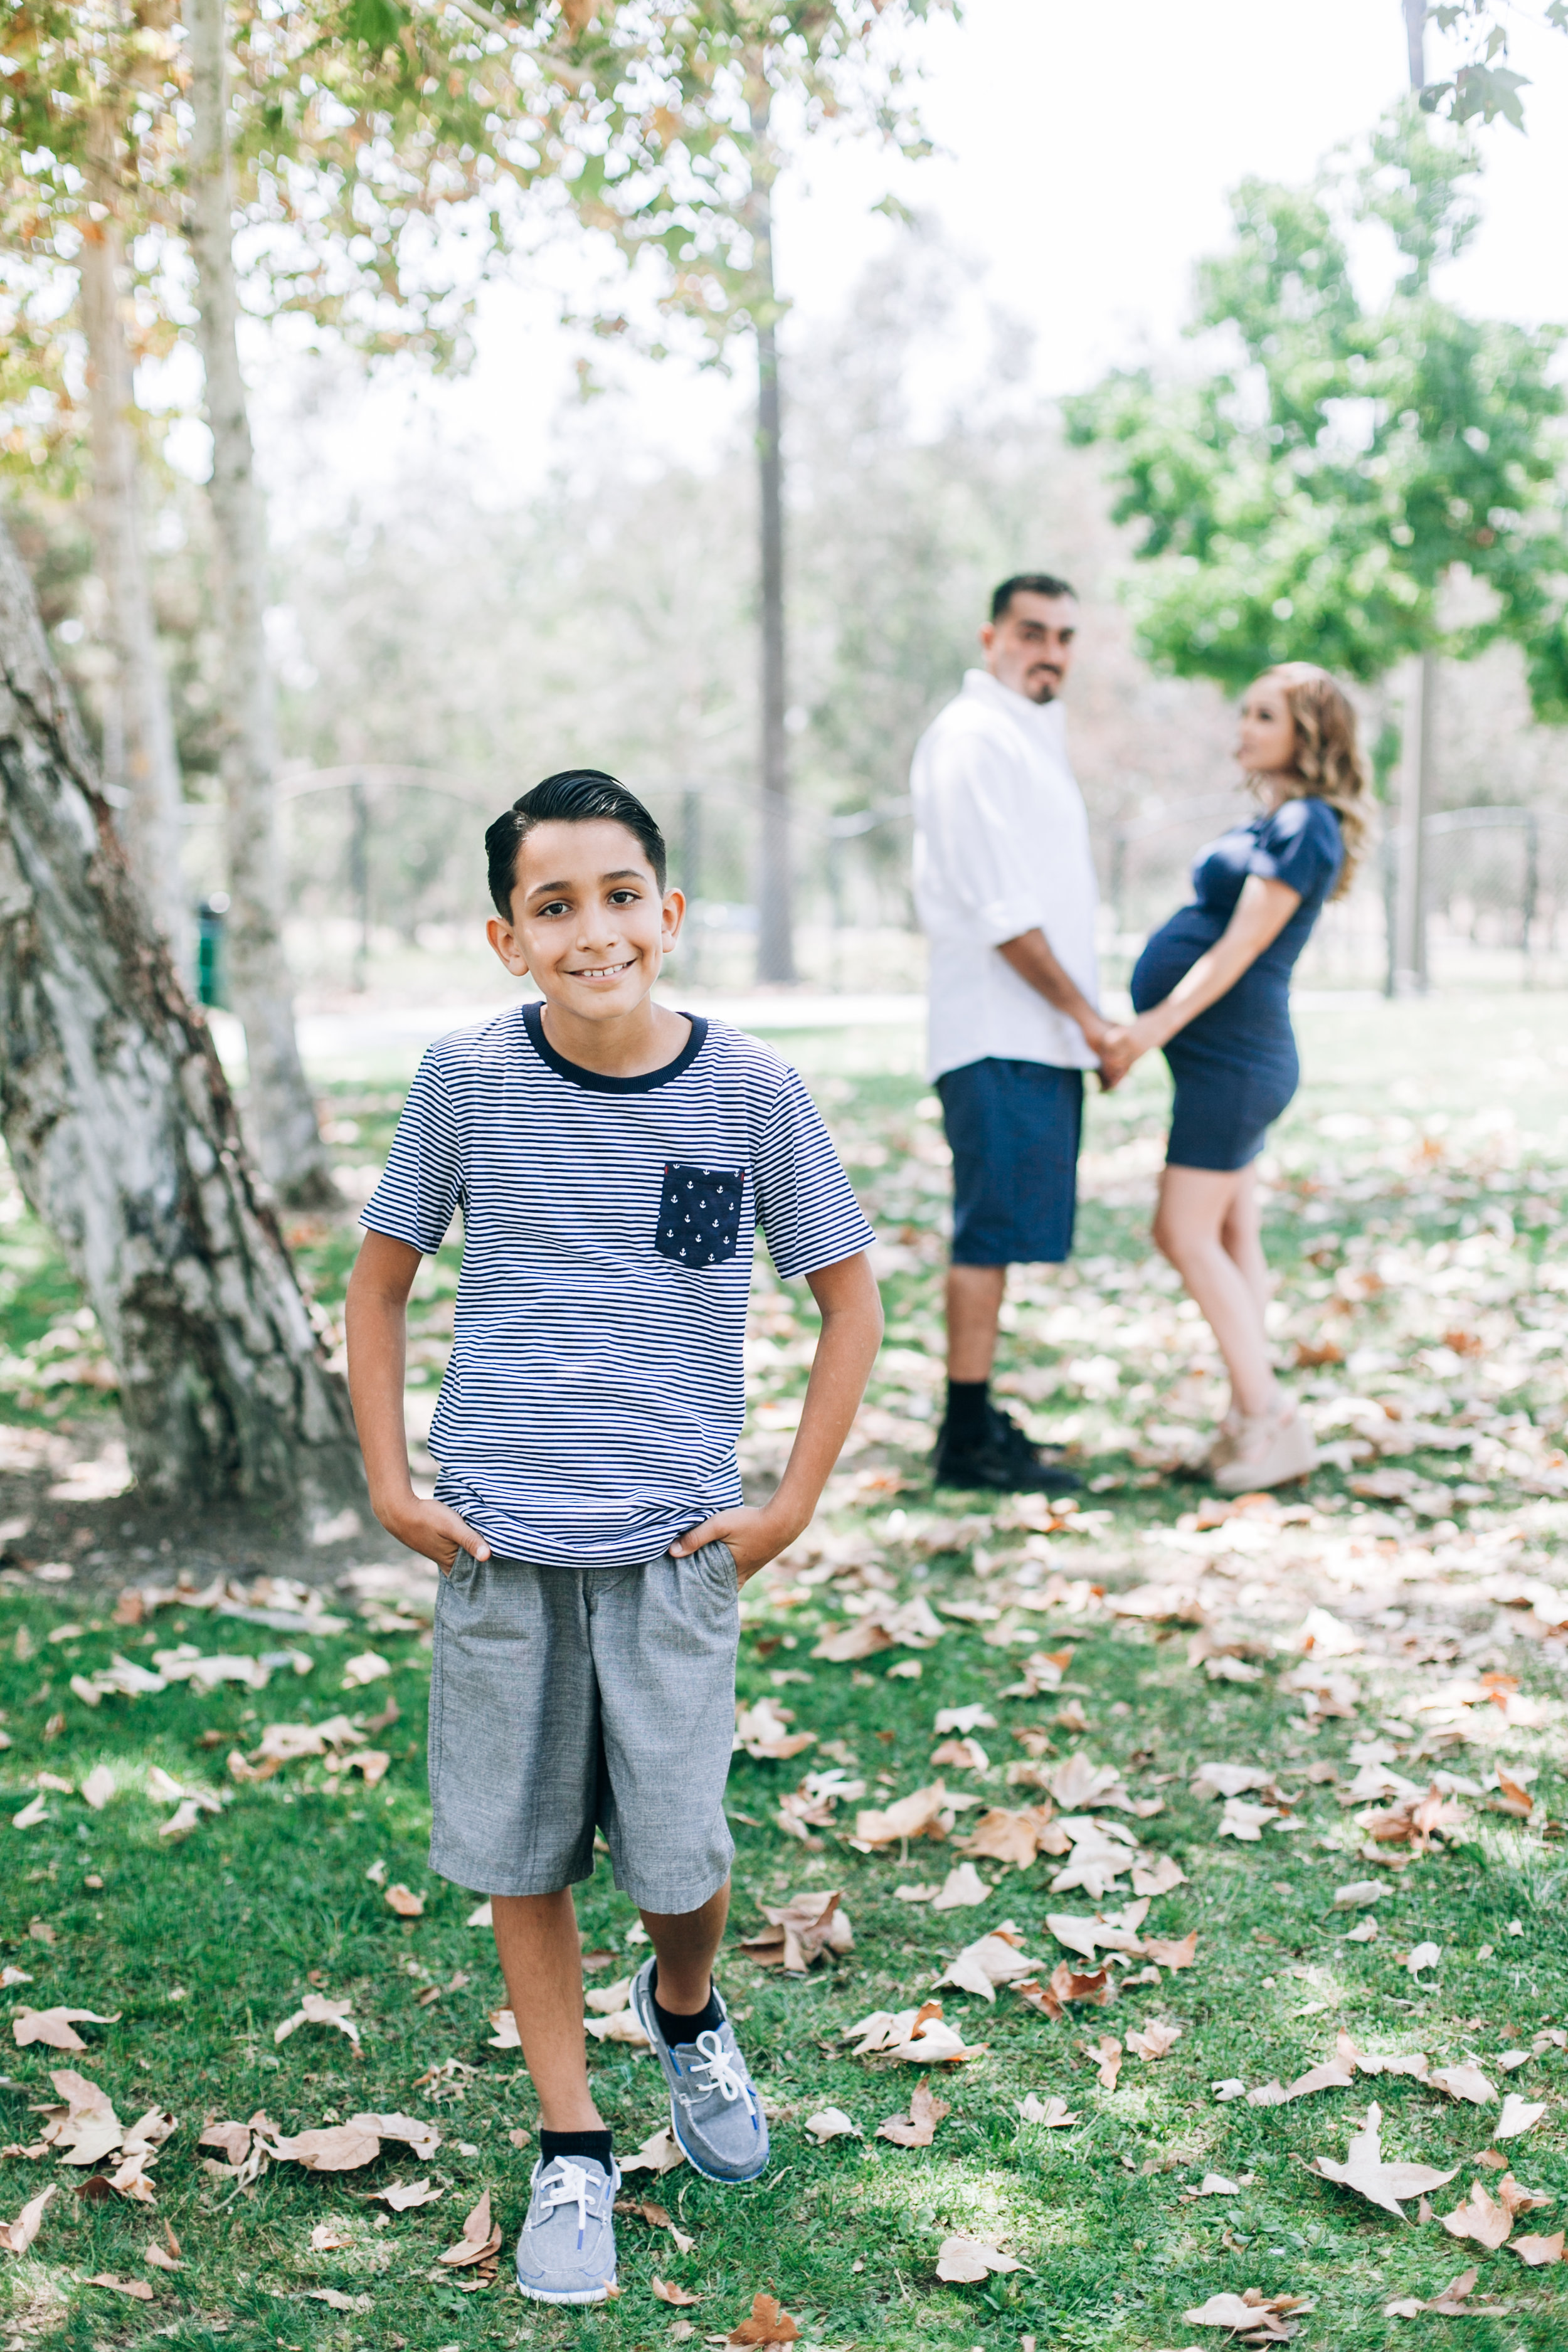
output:
{"label": "bright green leafy tree with thin trunk behind the pregnant woman", "polygon": [[[1239,687],[1309,649],[1371,682],[1512,640],[1535,715],[1568,717],[1563,336],[1467,318],[1432,285],[1474,233],[1474,172],[1406,106],[1349,183],[1246,181],[1192,325],[1237,358],[1199,381],[1119,372],[1067,402],[1072,435],[1110,449],[1117,520],[1143,524],[1138,640],[1161,668]],[[1352,282],[1347,216],[1403,259],[1378,308]],[[1429,748],[1432,691],[1408,753],[1415,842]],[[1420,978],[1418,854],[1406,880]]]}

